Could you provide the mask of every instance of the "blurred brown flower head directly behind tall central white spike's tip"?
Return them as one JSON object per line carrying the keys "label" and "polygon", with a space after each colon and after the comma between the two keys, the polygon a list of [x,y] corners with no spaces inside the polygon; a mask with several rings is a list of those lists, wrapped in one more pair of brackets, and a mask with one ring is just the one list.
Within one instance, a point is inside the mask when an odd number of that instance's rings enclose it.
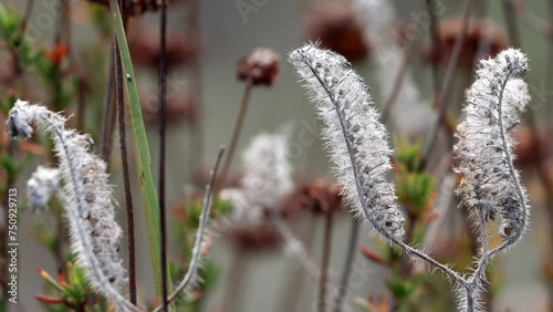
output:
{"label": "blurred brown flower head directly behind tall central white spike's tip", "polygon": [[303,23],[310,40],[320,41],[322,46],[336,51],[348,61],[365,60],[368,56],[369,49],[352,6],[316,6],[305,14]]}

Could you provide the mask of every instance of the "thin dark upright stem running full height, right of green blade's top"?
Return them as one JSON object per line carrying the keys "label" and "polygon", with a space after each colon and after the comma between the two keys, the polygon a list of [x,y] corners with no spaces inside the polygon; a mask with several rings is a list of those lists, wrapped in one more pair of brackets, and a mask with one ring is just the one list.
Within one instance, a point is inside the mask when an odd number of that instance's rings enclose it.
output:
{"label": "thin dark upright stem running full height, right of green blade's top", "polygon": [[167,3],[161,1],[159,10],[159,69],[158,69],[158,106],[159,106],[159,245],[161,247],[161,306],[167,311],[167,226],[165,217],[165,180],[166,180],[166,118],[167,118],[167,60],[166,60],[166,35],[167,35]]}

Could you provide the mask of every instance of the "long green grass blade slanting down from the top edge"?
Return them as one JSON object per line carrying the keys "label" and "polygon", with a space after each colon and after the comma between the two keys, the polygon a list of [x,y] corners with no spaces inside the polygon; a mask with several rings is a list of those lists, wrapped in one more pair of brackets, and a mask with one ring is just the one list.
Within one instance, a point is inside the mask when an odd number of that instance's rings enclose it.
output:
{"label": "long green grass blade slanting down from the top edge", "polygon": [[[117,0],[109,0],[112,10],[113,27],[121,50],[121,60],[125,72],[125,90],[128,96],[128,105],[131,112],[131,124],[133,128],[134,154],[136,159],[136,170],[140,184],[140,194],[143,199],[144,214],[146,217],[146,226],[148,230],[149,253],[152,258],[152,269],[154,270],[154,281],[156,284],[156,293],[161,298],[161,266],[160,266],[160,230],[159,230],[159,202],[157,199],[157,190],[152,174],[152,162],[149,158],[149,147],[142,117],[140,102],[138,98],[138,90],[135,83],[135,74],[133,62],[128,51],[125,28],[123,18],[117,6]],[[171,292],[173,283],[170,275],[167,277],[168,291]]]}

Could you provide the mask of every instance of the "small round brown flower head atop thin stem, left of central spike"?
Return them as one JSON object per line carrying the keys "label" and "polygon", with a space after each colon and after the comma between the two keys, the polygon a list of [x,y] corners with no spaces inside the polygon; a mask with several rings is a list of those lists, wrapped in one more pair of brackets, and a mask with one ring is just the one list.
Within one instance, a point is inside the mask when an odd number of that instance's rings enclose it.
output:
{"label": "small round brown flower head atop thin stem, left of central spike", "polygon": [[238,63],[238,80],[252,85],[271,86],[279,75],[280,58],[271,49],[258,48]]}

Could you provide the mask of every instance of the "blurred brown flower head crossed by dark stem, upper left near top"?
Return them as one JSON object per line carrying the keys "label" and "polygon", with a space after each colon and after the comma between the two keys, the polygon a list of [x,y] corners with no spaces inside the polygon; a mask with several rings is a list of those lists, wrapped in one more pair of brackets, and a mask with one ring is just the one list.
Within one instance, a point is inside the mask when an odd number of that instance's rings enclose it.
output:
{"label": "blurred brown flower head crossed by dark stem, upper left near top", "polygon": [[[128,49],[134,62],[157,69],[160,58],[158,29],[133,23],[129,27]],[[168,66],[186,62],[194,53],[196,45],[189,35],[177,31],[167,32],[165,55]]]}

